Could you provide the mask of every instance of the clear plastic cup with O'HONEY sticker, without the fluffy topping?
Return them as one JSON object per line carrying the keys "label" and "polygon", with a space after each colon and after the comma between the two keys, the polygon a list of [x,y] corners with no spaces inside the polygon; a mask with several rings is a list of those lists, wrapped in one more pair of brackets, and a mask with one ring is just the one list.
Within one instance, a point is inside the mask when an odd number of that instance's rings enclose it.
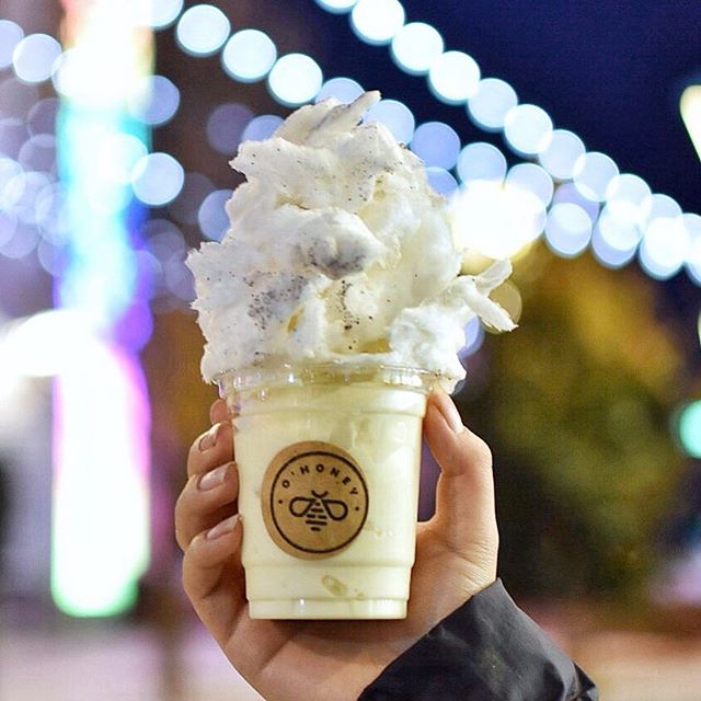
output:
{"label": "clear plastic cup with O'HONEY sticker, without the fluffy topping", "polygon": [[218,378],[234,415],[251,618],[406,616],[434,380],[335,364]]}

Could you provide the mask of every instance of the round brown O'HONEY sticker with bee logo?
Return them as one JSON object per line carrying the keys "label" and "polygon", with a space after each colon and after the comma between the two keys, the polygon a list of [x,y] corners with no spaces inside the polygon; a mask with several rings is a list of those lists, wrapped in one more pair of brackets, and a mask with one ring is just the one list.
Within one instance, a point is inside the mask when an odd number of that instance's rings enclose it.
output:
{"label": "round brown O'HONEY sticker with bee logo", "polygon": [[333,555],[353,542],[368,515],[368,489],[345,450],[319,440],[280,450],[261,492],[271,538],[296,558]]}

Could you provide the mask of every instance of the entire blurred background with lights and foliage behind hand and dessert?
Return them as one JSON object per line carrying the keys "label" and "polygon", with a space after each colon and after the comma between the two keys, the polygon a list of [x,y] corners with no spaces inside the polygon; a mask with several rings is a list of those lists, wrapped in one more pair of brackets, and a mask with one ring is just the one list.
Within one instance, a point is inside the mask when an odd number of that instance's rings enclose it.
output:
{"label": "entire blurred background with lights and foliage behind hand and dessert", "polygon": [[[520,327],[466,330],[501,575],[612,701],[701,688],[701,4],[0,0],[0,698],[260,699],[172,509],[207,424],[184,257],[243,139],[379,89]],[[436,468],[424,466],[422,517]]]}

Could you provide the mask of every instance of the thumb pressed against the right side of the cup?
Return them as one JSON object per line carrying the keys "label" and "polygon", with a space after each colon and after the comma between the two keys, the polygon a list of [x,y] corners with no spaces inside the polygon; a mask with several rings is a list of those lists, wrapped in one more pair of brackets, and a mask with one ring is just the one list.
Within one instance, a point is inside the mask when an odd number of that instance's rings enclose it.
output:
{"label": "thumb pressed against the right side of the cup", "polygon": [[436,487],[436,531],[450,550],[493,553],[498,531],[494,506],[492,451],[469,430],[448,394],[434,392],[426,409],[424,436],[440,468]]}

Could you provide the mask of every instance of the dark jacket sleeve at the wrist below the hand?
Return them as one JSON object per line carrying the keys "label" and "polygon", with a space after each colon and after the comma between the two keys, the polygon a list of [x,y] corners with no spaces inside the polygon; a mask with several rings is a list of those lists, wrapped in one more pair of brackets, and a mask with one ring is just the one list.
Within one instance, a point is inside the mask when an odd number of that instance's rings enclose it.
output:
{"label": "dark jacket sleeve at the wrist below the hand", "polygon": [[594,682],[496,581],[400,655],[358,701],[596,701]]}

